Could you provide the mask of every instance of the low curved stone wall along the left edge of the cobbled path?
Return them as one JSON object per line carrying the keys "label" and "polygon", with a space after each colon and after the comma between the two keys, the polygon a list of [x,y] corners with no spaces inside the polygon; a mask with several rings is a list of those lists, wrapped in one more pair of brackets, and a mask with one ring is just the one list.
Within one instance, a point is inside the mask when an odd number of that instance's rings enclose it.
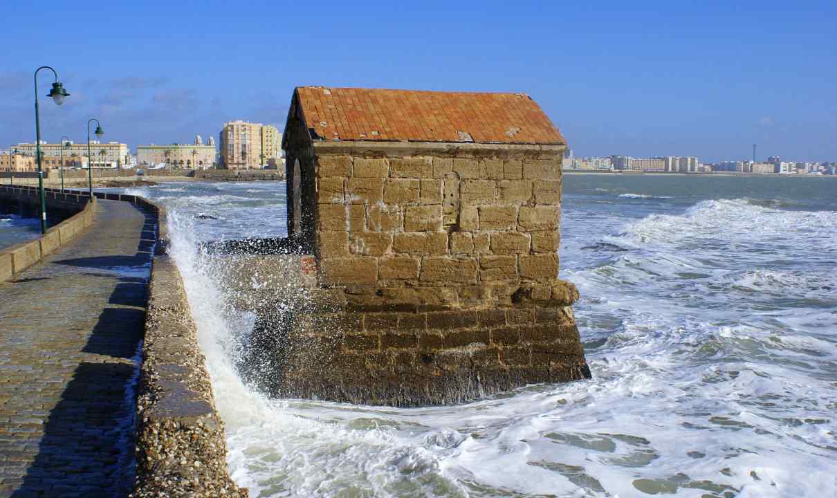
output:
{"label": "low curved stone wall along the left edge of the cobbled path", "polygon": [[[59,247],[69,244],[93,223],[95,204],[90,203],[90,198],[56,192],[47,192],[44,197],[47,212],[59,213],[59,219],[63,221],[49,228],[38,239],[0,250],[0,282],[11,280],[14,275],[38,263]],[[32,187],[0,187],[0,203],[3,203],[4,208],[13,208],[18,212],[38,213],[38,190]]]}

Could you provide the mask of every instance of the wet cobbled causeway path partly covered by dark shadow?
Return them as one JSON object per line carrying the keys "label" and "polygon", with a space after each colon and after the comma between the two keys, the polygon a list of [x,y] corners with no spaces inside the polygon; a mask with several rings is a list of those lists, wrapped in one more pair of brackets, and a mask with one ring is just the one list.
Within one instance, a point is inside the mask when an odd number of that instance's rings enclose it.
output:
{"label": "wet cobbled causeway path partly covered by dark shadow", "polygon": [[0,497],[130,491],[156,227],[100,200],[85,233],[0,284]]}

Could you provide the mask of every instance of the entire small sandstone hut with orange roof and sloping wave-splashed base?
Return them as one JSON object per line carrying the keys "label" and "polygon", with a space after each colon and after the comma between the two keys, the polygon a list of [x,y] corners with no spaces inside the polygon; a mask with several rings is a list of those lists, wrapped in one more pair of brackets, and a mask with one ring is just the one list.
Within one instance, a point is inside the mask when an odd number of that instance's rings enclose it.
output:
{"label": "entire small sandstone hut with orange roof and sloping wave-splashed base", "polygon": [[415,405],[589,377],[557,278],[566,147],[528,95],[297,88],[288,227],[316,289],[267,388]]}

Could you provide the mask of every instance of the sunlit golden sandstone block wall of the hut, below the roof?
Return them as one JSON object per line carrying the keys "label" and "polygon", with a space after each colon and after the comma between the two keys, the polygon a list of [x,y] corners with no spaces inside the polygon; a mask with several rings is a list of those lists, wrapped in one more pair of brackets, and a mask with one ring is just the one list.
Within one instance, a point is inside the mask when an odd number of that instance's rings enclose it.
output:
{"label": "sunlit golden sandstone block wall of the hut, below the roof", "polygon": [[444,287],[425,292],[463,306],[507,305],[521,288],[550,295],[561,214],[554,152],[318,155],[315,170],[322,286]]}

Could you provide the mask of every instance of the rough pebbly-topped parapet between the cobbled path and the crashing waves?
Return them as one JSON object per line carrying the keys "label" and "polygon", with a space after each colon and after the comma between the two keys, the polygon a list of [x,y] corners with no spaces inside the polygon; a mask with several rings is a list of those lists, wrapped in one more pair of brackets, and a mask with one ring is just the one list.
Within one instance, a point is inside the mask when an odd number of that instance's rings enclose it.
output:
{"label": "rough pebbly-topped parapet between the cobbled path and the crashing waves", "polygon": [[[129,197],[129,196],[122,196]],[[223,421],[177,266],[162,254],[165,210],[157,210],[137,398],[136,486],[132,496],[247,496],[229,477]]]}

